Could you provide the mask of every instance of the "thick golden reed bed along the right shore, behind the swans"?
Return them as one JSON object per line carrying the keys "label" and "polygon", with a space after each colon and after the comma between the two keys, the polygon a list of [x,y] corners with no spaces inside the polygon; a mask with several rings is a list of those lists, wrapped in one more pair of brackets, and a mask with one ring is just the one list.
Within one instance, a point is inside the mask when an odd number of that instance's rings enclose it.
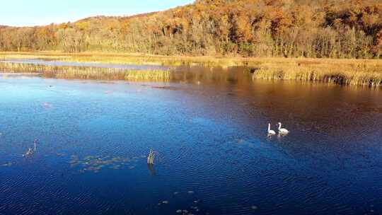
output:
{"label": "thick golden reed bed along the right shore, behind the swans", "polygon": [[382,64],[359,61],[265,63],[255,69],[253,79],[321,81],[351,86],[382,86]]}

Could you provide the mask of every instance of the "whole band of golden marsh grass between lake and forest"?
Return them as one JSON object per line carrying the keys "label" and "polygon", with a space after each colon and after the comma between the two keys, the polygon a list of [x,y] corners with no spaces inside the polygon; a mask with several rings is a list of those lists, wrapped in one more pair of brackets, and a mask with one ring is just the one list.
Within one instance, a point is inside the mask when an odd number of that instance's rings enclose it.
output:
{"label": "whole band of golden marsh grass between lake and forest", "polygon": [[[150,54],[113,54],[98,52],[0,52],[0,59],[47,59],[62,62],[103,64],[149,64],[163,66],[248,66],[252,79],[294,80],[335,83],[340,85],[382,86],[380,59],[304,59],[304,58],[243,58],[186,57]],[[170,71],[128,71],[80,66],[36,66],[1,63],[3,71],[42,71],[47,76],[66,79],[118,79],[139,81],[170,81]],[[16,68],[17,67],[17,68]],[[28,68],[27,68],[28,67]]]}

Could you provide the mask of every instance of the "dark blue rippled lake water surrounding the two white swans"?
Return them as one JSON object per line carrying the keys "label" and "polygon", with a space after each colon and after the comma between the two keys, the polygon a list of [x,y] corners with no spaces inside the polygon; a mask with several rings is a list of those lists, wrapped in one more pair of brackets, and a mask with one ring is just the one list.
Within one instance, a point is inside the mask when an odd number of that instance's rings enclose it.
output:
{"label": "dark blue rippled lake water surrounding the two white swans", "polygon": [[0,214],[382,214],[381,91],[212,78],[1,74]]}

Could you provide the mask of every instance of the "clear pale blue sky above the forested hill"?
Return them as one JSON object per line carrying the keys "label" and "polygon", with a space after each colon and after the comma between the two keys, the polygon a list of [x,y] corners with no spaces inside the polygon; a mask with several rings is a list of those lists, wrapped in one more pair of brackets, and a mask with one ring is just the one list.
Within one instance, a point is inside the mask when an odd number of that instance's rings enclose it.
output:
{"label": "clear pale blue sky above the forested hill", "polygon": [[0,25],[33,26],[88,16],[129,16],[163,11],[194,0],[1,0]]}

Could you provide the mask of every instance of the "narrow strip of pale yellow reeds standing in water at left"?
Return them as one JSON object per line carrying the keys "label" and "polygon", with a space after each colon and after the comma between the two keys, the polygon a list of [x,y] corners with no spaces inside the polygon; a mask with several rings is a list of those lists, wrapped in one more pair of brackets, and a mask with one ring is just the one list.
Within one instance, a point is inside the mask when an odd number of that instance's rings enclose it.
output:
{"label": "narrow strip of pale yellow reeds standing in water at left", "polygon": [[90,66],[47,66],[0,62],[0,70],[8,73],[35,73],[57,79],[94,79],[126,81],[170,81],[168,70],[131,70]]}

